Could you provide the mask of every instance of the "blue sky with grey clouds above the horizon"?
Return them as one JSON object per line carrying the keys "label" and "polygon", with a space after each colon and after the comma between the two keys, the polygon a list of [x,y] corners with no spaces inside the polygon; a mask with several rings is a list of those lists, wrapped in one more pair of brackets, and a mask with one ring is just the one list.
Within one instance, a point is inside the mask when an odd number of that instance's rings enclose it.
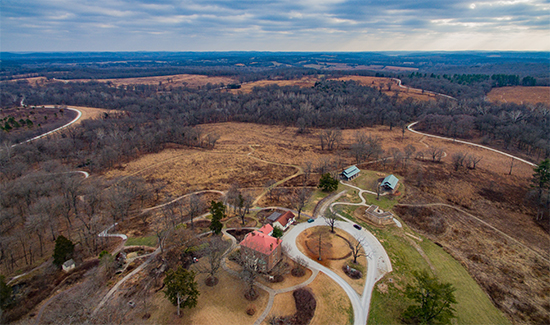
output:
{"label": "blue sky with grey clouds above the horizon", "polygon": [[550,51],[548,0],[1,0],[0,51]]}

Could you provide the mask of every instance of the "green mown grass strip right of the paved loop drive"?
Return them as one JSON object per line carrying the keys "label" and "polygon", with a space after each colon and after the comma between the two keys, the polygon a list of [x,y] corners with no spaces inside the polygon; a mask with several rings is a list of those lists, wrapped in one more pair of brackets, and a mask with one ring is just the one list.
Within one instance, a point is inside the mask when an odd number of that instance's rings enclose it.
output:
{"label": "green mown grass strip right of the paved loop drive", "polygon": [[[382,230],[361,224],[382,242],[393,266],[393,272],[378,282],[373,291],[369,322],[400,323],[399,316],[411,303],[404,297],[403,291],[413,281],[412,271],[429,270],[429,266],[416,249],[401,237],[401,229]],[[458,261],[429,240],[425,239],[420,245],[435,266],[438,278],[452,283],[457,289],[457,319],[453,323],[509,324],[508,319],[493,306],[489,297]]]}

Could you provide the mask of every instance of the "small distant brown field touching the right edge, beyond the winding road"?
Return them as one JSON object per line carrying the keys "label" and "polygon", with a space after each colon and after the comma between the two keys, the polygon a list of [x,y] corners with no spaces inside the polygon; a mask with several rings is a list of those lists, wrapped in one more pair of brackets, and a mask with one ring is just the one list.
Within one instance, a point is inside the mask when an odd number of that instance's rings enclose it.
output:
{"label": "small distant brown field touching the right edge, beyond the winding road", "polygon": [[550,104],[550,87],[500,87],[487,94],[493,103]]}

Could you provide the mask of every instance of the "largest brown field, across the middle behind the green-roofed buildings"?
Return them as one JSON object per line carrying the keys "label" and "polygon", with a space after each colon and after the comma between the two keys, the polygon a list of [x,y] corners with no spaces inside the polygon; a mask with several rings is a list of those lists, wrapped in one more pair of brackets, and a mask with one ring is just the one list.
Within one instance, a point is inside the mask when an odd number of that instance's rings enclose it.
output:
{"label": "largest brown field, across the middle behind the green-roofed buildings", "polygon": [[[106,176],[140,175],[146,179],[162,180],[168,185],[166,191],[177,196],[202,189],[225,190],[233,183],[239,183],[241,187],[261,188],[270,179],[282,180],[296,174],[297,168],[291,165],[303,166],[306,162],[311,162],[314,167],[322,160],[332,160],[341,167],[355,163],[345,152],[321,151],[315,136],[316,130],[299,135],[292,127],[245,123],[208,124],[203,125],[202,129],[206,133],[214,132],[221,136],[214,150],[167,149],[143,156],[123,165],[121,169],[111,170]],[[387,127],[344,130],[343,147],[349,146],[357,131],[379,136],[384,150],[392,147],[403,149],[407,144],[415,146],[417,151],[443,147],[447,156],[442,161],[447,164],[451,163],[453,153],[468,152],[483,157],[478,165],[480,170],[504,176],[510,169],[510,158],[492,151],[452,141],[424,138],[410,132],[405,133],[402,140],[398,128],[393,131]],[[413,162],[409,165],[414,165]],[[388,166],[393,166],[391,160]],[[370,167],[360,164],[360,168]],[[532,168],[516,163],[513,175],[519,176],[521,184],[527,186]]]}

